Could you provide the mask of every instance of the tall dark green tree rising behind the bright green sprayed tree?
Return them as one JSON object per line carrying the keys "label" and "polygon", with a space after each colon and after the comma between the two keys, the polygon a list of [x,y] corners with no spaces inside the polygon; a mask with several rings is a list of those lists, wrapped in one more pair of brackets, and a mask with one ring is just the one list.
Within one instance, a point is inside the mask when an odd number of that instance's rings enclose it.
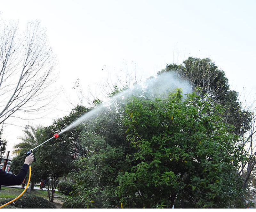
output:
{"label": "tall dark green tree rising behind the bright green sprayed tree", "polygon": [[176,72],[182,79],[187,79],[194,88],[200,88],[199,93],[209,94],[212,100],[224,106],[225,122],[235,126],[236,134],[242,135],[249,130],[252,113],[242,109],[238,93],[230,91],[225,72],[218,69],[209,58],[189,57],[182,65],[168,64],[158,75],[169,71]]}

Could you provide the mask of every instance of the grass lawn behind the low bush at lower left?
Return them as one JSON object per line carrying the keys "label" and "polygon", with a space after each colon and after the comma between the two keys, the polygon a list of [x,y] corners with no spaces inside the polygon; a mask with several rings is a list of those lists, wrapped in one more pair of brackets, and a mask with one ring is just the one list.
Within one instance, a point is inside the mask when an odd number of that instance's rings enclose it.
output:
{"label": "grass lawn behind the low bush at lower left", "polygon": [[[11,187],[3,187],[2,186],[1,187],[1,192],[0,192],[0,200],[6,199],[6,198],[13,198],[14,199],[15,197],[19,196],[23,192],[23,190],[24,189],[11,188]],[[27,191],[24,194],[26,194],[26,193],[27,193]],[[49,200],[47,191],[31,190],[30,194],[31,195],[35,195],[35,196],[39,196],[39,197],[43,197],[46,200]],[[54,196],[61,197],[61,194],[58,193],[58,191],[55,191]],[[56,197],[54,197],[53,203],[55,204],[55,206],[57,208],[61,208],[61,206],[62,206],[61,199],[60,198],[56,198]]]}

